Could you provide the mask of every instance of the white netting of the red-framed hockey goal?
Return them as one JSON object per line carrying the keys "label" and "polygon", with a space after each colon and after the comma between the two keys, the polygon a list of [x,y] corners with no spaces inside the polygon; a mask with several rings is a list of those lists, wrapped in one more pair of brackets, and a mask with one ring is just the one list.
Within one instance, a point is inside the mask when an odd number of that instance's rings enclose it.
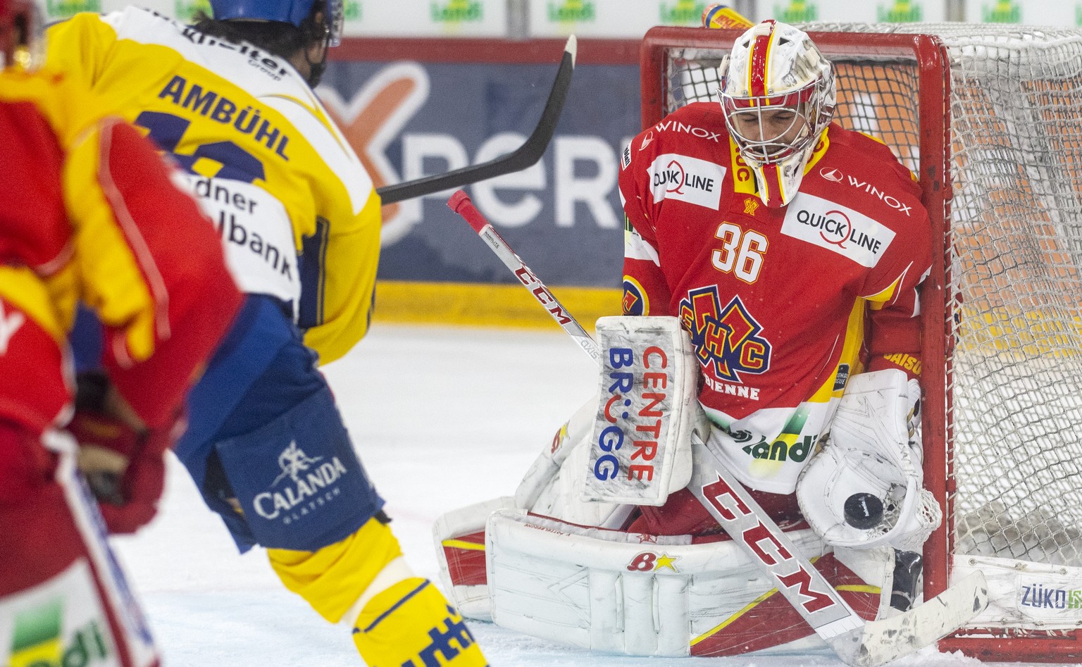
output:
{"label": "white netting of the red-framed hockey goal", "polygon": [[[949,307],[942,329],[925,335],[947,337],[953,550],[1082,566],[1082,31],[801,27],[929,34],[946,46]],[[837,72],[839,121],[918,171],[915,57],[844,51],[824,49]],[[714,99],[723,54],[668,49],[664,110]]]}

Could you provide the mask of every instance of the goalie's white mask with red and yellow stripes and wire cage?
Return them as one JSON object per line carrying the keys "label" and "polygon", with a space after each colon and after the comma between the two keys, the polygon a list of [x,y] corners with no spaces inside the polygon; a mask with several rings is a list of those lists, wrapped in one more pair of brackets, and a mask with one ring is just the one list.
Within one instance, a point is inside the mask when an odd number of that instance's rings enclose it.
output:
{"label": "goalie's white mask with red and yellow stripes and wire cage", "polygon": [[770,208],[796,195],[834,116],[834,72],[807,34],[764,21],[741,35],[718,68],[725,124]]}

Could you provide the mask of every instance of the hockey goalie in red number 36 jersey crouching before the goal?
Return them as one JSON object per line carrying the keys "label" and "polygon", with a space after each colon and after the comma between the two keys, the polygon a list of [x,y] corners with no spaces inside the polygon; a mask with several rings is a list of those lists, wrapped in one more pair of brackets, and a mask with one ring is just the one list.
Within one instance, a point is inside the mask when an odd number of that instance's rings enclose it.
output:
{"label": "hockey goalie in red number 36 jersey crouching before the goal", "polygon": [[598,396],[513,497],[437,523],[465,615],[632,655],[810,648],[689,485],[709,466],[866,619],[920,602],[940,523],[916,417],[920,188],[832,122],[832,66],[803,31],[753,26],[718,74],[717,102],[622,154],[624,314],[597,322]]}

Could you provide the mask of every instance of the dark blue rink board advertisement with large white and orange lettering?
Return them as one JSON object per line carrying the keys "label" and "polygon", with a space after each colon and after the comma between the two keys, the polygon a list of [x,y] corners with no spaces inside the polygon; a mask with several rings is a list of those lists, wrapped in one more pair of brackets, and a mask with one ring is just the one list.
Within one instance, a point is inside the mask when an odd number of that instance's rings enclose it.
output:
{"label": "dark blue rink board advertisement with large white and orange lettering", "polygon": [[[563,48],[563,40],[545,40],[533,50],[544,51],[531,58],[539,62],[526,63],[339,61],[318,92],[377,186],[399,183],[520,146],[541,116]],[[541,161],[465,189],[545,283],[616,289],[623,253],[617,174],[620,150],[638,132],[638,66],[582,63],[589,49],[580,42],[580,65]],[[447,206],[450,194],[384,206],[380,279],[514,283]]]}

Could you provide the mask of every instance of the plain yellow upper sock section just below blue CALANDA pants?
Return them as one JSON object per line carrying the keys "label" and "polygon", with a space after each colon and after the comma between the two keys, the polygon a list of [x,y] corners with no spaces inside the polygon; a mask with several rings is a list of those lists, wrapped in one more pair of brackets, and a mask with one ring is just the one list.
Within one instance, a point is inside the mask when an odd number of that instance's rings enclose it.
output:
{"label": "plain yellow upper sock section just below blue CALANDA pants", "polygon": [[341,621],[384,569],[400,557],[401,548],[391,528],[375,517],[345,539],[316,551],[267,549],[270,566],[286,588],[331,623]]}

